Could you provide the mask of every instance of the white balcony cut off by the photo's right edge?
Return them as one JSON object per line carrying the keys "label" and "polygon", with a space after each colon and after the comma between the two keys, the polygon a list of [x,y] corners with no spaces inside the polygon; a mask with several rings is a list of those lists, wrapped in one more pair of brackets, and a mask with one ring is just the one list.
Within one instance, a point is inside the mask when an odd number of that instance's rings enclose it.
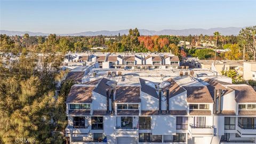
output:
{"label": "white balcony cut off by the photo's right edge", "polygon": [[242,137],[252,137],[252,136],[255,137],[256,125],[238,123],[237,132]]}

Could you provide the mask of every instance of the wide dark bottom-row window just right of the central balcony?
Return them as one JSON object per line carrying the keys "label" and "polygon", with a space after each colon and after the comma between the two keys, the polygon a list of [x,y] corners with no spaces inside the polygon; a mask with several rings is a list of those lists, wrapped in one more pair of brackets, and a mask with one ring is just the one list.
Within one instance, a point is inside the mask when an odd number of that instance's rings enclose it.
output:
{"label": "wide dark bottom-row window just right of the central balcony", "polygon": [[162,142],[162,135],[152,135],[152,133],[139,133],[139,142]]}

